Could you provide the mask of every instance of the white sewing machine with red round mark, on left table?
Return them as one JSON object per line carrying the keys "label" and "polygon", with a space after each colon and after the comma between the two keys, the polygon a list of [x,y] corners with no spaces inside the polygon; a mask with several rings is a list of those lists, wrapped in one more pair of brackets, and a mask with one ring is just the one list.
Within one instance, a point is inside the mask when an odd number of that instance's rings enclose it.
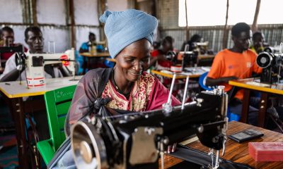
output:
{"label": "white sewing machine with red round mark, on left table", "polygon": [[44,65],[62,63],[69,70],[69,73],[75,73],[74,49],[67,50],[62,54],[16,54],[16,65],[18,70],[25,68],[25,75],[28,87],[37,87],[45,85]]}

